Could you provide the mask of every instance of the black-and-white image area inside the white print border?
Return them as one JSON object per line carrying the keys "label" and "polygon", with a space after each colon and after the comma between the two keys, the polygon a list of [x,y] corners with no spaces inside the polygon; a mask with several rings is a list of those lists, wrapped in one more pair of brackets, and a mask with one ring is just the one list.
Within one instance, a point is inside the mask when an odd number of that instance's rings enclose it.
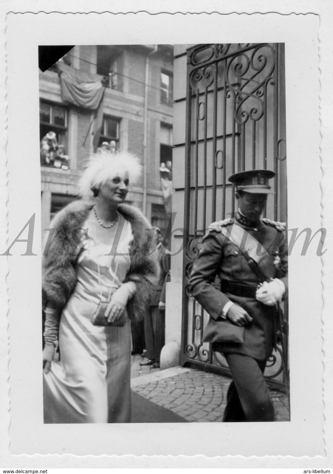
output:
{"label": "black-and-white image area inside the white print border", "polygon": [[45,423],[288,421],[284,45],[63,52],[38,58]]}

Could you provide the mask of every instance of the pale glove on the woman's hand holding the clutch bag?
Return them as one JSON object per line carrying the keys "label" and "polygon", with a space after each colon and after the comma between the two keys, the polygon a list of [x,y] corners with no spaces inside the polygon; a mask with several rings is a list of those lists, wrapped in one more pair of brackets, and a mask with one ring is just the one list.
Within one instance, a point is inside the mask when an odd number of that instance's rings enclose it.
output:
{"label": "pale glove on the woman's hand holding the clutch bag", "polygon": [[126,323],[126,304],[136,291],[134,282],[123,283],[111,296],[105,317],[109,324],[114,326],[124,326]]}

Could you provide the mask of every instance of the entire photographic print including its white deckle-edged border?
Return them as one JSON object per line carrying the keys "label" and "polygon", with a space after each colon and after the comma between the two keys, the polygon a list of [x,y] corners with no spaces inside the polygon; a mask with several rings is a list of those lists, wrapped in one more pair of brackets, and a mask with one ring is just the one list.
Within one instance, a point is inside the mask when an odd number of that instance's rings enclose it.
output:
{"label": "entire photographic print including its white deckle-edged border", "polygon": [[324,456],[318,18],[7,23],[10,452]]}

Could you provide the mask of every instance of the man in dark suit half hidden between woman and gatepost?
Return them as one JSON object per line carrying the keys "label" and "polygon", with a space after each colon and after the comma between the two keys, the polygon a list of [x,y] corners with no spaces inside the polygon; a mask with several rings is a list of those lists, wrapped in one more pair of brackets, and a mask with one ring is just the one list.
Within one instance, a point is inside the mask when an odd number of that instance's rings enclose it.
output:
{"label": "man in dark suit half hidden between woman and gatepost", "polygon": [[156,227],[154,233],[155,252],[158,252],[160,278],[149,301],[149,308],[144,317],[144,338],[146,341],[147,360],[140,365],[160,367],[160,355],[165,342],[165,286],[170,272],[170,252],[162,246],[161,229]]}

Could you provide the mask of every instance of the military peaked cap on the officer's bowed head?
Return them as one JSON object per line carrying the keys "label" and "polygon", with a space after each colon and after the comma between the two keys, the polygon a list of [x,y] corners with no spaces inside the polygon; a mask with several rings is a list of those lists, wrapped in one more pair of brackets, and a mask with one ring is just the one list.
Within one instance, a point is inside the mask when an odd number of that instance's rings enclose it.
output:
{"label": "military peaked cap on the officer's bowed head", "polygon": [[230,176],[229,181],[235,184],[237,191],[251,192],[252,194],[274,194],[268,182],[273,176],[275,173],[270,170],[242,171]]}

